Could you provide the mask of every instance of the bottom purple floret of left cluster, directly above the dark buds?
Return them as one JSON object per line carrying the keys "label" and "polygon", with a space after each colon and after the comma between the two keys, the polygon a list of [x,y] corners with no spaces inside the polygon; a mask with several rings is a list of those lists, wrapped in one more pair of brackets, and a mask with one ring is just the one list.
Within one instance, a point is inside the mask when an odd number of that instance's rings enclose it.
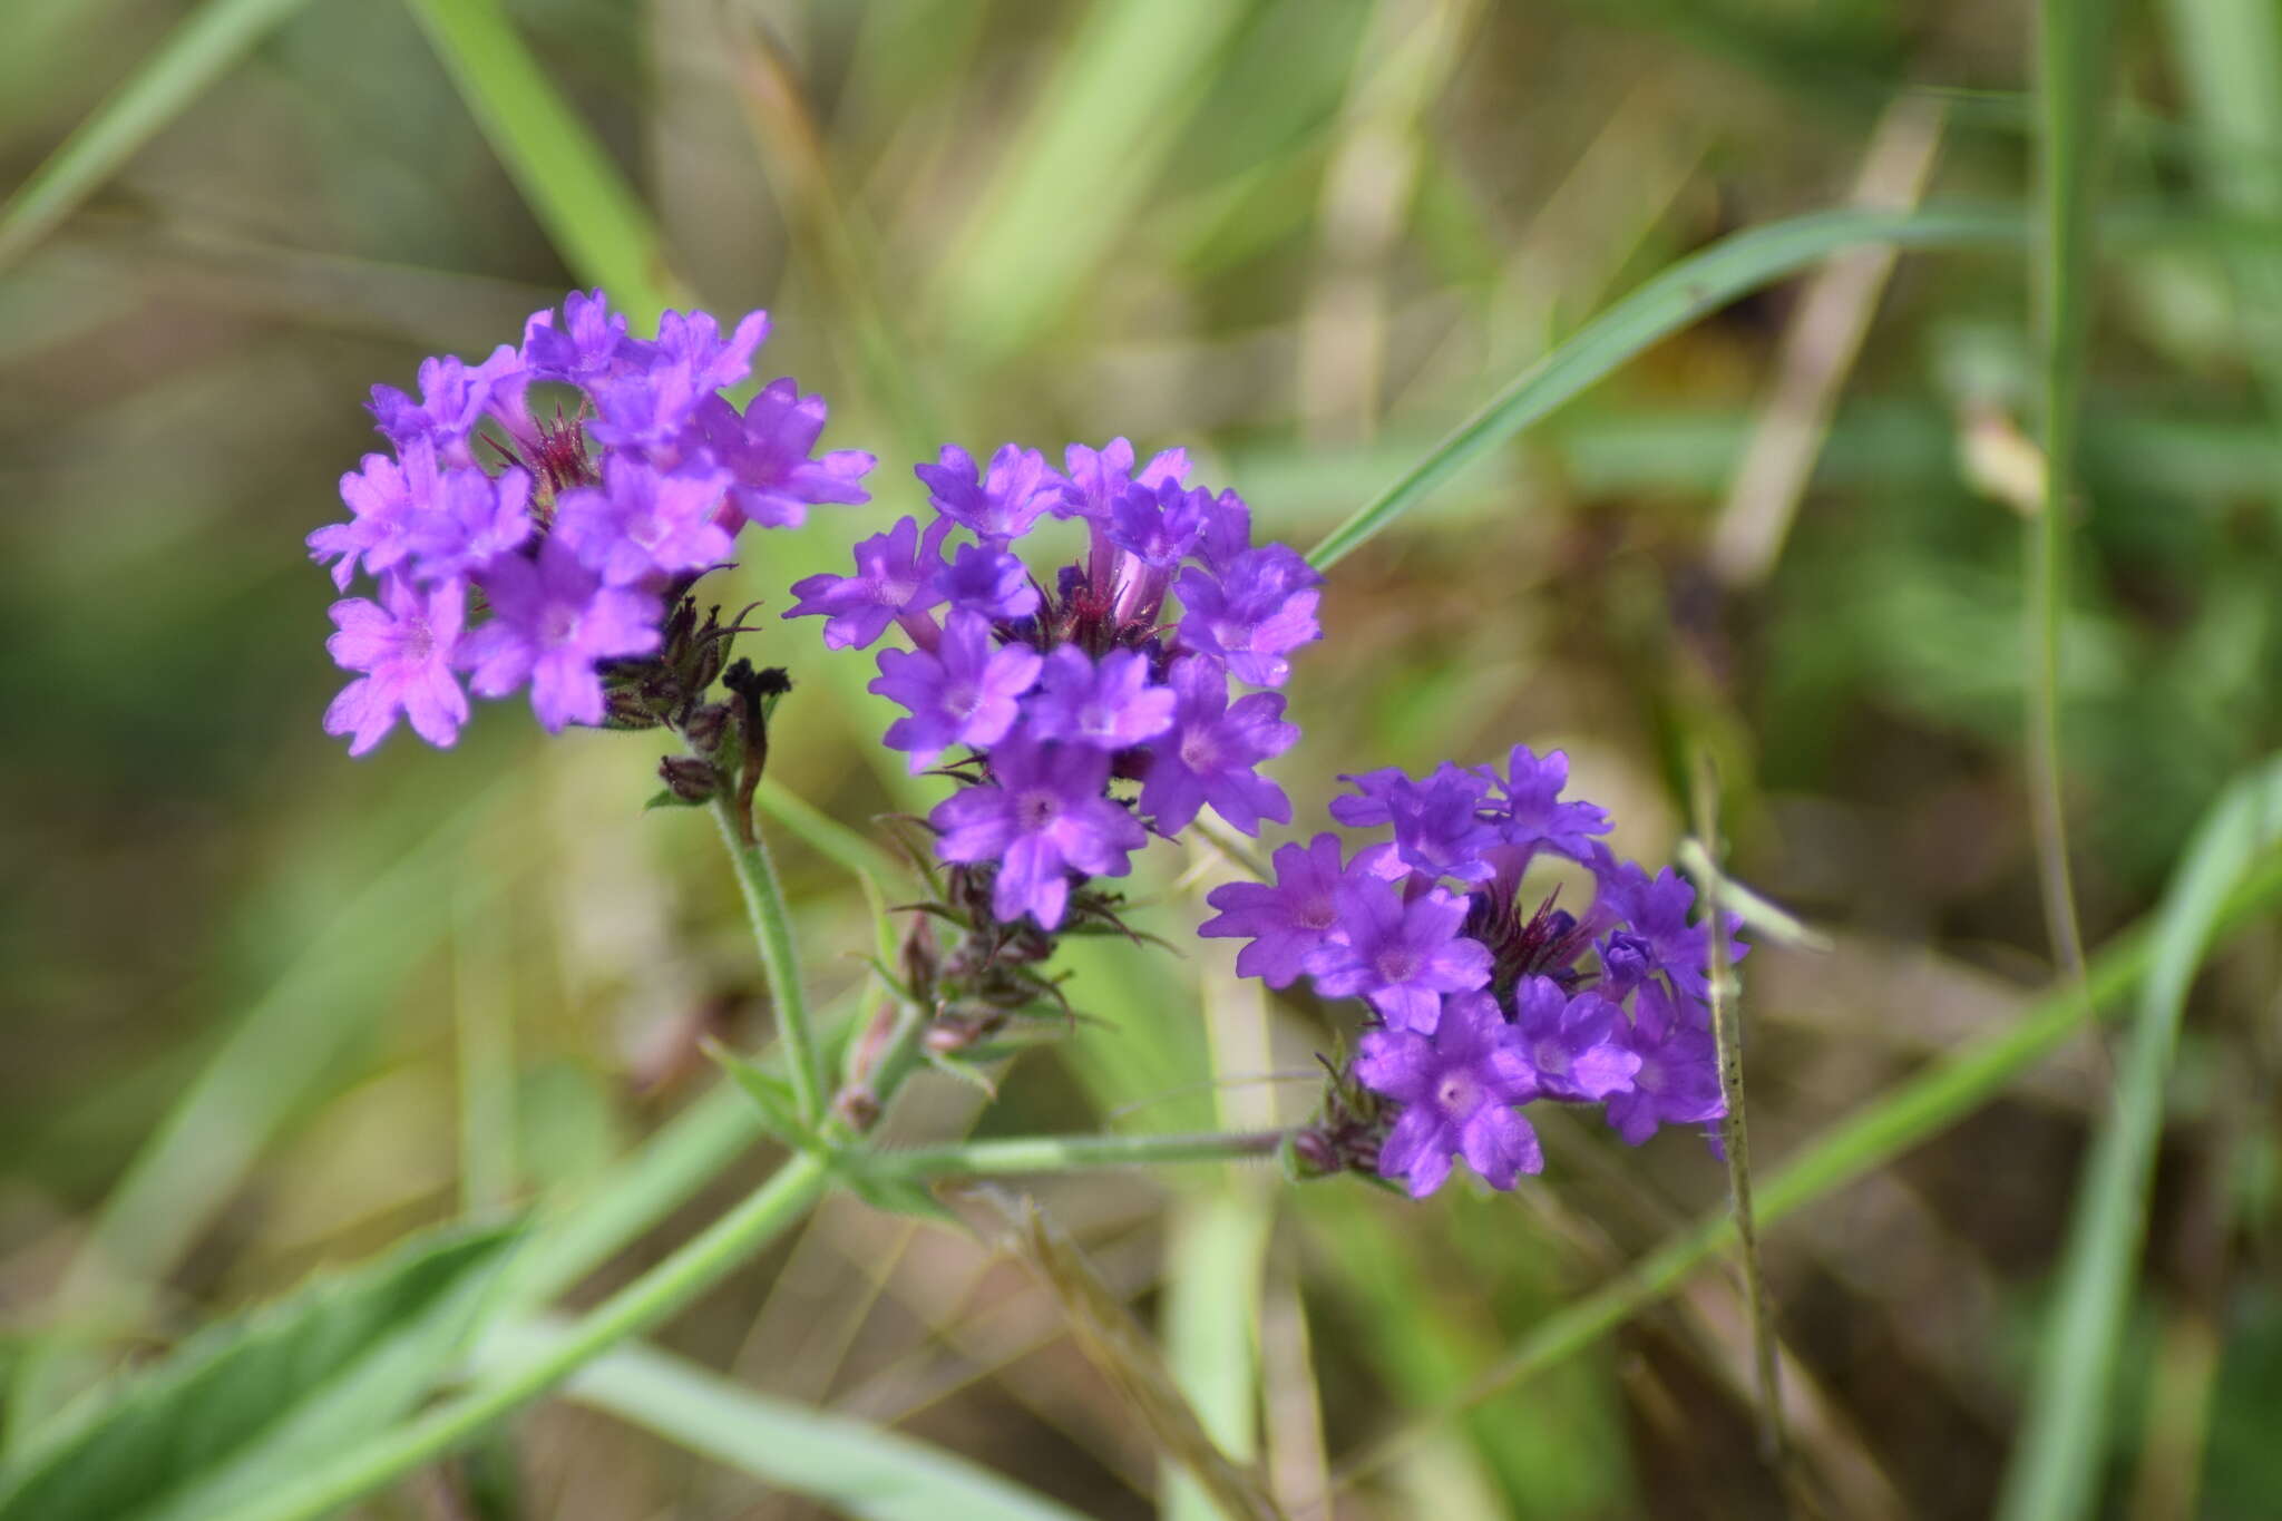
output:
{"label": "bottom purple floret of left cluster, directly above the dark buds", "polygon": [[566,723],[602,723],[602,677],[596,661],[657,650],[662,607],[646,591],[602,586],[559,538],[539,559],[500,556],[479,586],[491,623],[468,634],[459,664],[475,673],[477,696],[504,698],[532,684],[532,711],[552,732]]}

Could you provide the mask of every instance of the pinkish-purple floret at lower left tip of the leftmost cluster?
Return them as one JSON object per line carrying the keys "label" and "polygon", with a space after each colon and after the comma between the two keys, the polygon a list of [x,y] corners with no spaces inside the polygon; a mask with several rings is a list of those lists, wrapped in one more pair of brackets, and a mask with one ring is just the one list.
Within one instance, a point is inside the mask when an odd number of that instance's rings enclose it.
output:
{"label": "pinkish-purple floret at lower left tip of the leftmost cluster", "polygon": [[459,739],[468,721],[468,693],[452,675],[468,593],[447,581],[418,588],[402,577],[381,579],[379,604],[345,597],[333,604],[340,629],[324,641],[333,664],[361,670],[324,709],[324,732],[347,734],[349,755],[363,755],[404,714],[413,732],[431,746]]}

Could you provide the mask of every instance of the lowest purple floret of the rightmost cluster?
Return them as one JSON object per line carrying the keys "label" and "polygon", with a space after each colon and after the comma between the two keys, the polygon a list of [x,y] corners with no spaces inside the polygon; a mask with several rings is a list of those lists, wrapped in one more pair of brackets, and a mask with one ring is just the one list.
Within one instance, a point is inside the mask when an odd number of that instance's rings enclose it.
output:
{"label": "lowest purple floret of the rightmost cluster", "polygon": [[1465,1156],[1490,1188],[1513,1188],[1522,1172],[1545,1170],[1538,1133],[1513,1113],[1534,1097],[1536,1079],[1488,994],[1447,999],[1431,1040],[1369,1031],[1356,1076],[1401,1104],[1378,1147],[1378,1177],[1401,1179],[1413,1199],[1442,1186],[1451,1156]]}

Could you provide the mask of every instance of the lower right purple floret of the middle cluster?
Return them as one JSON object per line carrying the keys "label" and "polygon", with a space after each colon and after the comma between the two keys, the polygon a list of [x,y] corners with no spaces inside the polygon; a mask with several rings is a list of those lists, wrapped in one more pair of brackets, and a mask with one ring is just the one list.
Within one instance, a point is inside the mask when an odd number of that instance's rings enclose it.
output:
{"label": "lower right purple floret of the middle cluster", "polygon": [[1173,661],[1171,684],[1180,698],[1173,732],[1150,746],[1141,782],[1141,812],[1155,816],[1157,832],[1189,828],[1207,803],[1246,835],[1257,835],[1262,819],[1292,823],[1292,800],[1257,771],[1298,743],[1282,698],[1255,691],[1230,702],[1228,677],[1198,654]]}

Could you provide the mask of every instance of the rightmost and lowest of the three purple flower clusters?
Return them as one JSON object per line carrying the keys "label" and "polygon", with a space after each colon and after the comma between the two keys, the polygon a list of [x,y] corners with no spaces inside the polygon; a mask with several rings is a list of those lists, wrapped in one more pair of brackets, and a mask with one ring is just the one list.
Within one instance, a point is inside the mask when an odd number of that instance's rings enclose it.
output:
{"label": "rightmost and lowest of the three purple flower clusters", "polygon": [[[1269,987],[1308,976],[1319,994],[1369,1001],[1353,1079],[1392,1111],[1381,1177],[1426,1197],[1463,1156],[1511,1188],[1545,1165],[1518,1113],[1536,1099],[1600,1104],[1632,1145],[1725,1113],[1696,894],[1668,867],[1618,860],[1600,839],[1607,812],[1561,800],[1568,757],[1515,746],[1504,773],[1445,762],[1426,778],[1344,780],[1356,796],[1333,819],[1390,839],[1353,855],[1333,832],[1282,846],[1271,882],[1209,894],[1221,912],[1198,933],[1248,940],[1237,971]],[[1552,896],[1518,905],[1543,855],[1591,873],[1581,917]]]}

